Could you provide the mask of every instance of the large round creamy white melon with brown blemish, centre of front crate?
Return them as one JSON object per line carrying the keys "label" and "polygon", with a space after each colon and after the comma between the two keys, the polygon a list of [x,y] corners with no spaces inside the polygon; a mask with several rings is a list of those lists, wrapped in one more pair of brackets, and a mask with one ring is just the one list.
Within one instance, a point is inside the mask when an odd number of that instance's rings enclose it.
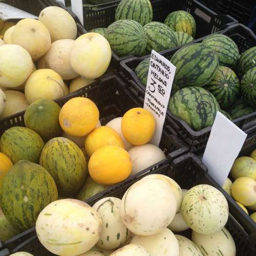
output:
{"label": "large round creamy white melon with brown blemish, centre of front crate", "polygon": [[126,190],[121,218],[134,234],[150,236],[169,225],[176,207],[176,198],[169,185],[159,179],[142,179]]}

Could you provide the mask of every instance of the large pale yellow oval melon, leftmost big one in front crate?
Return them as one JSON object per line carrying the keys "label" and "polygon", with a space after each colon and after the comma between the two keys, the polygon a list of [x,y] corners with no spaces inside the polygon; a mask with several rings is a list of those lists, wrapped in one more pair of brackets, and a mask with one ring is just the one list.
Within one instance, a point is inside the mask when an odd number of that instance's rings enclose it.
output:
{"label": "large pale yellow oval melon, leftmost big one in front crate", "polygon": [[63,256],[90,250],[99,240],[101,228],[98,212],[75,199],[52,202],[40,212],[36,221],[41,244],[50,252]]}

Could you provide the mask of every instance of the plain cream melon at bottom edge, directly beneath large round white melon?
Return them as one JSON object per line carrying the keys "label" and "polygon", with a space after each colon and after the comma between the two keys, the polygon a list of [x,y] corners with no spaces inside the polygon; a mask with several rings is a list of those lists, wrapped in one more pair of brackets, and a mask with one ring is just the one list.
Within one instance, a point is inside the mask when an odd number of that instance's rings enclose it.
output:
{"label": "plain cream melon at bottom edge, directly beneath large round white melon", "polygon": [[178,241],[168,228],[152,236],[135,236],[131,243],[143,246],[151,256],[179,256]]}

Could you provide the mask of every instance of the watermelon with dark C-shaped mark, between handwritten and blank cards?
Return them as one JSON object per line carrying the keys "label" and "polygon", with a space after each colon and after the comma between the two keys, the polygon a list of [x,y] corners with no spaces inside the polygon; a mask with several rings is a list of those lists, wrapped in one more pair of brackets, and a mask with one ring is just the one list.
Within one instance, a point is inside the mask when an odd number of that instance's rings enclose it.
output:
{"label": "watermelon with dark C-shaped mark, between handwritten and blank cards", "polygon": [[194,131],[214,123],[220,106],[215,97],[201,87],[179,90],[169,100],[169,111],[184,120]]}

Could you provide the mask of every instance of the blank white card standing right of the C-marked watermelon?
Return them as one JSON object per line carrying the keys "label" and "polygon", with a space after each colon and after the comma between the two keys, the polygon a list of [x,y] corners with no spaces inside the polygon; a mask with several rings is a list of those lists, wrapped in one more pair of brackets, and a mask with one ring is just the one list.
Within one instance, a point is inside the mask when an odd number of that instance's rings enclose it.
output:
{"label": "blank white card standing right of the C-marked watermelon", "polygon": [[202,161],[220,186],[226,181],[246,137],[236,124],[217,112]]}

